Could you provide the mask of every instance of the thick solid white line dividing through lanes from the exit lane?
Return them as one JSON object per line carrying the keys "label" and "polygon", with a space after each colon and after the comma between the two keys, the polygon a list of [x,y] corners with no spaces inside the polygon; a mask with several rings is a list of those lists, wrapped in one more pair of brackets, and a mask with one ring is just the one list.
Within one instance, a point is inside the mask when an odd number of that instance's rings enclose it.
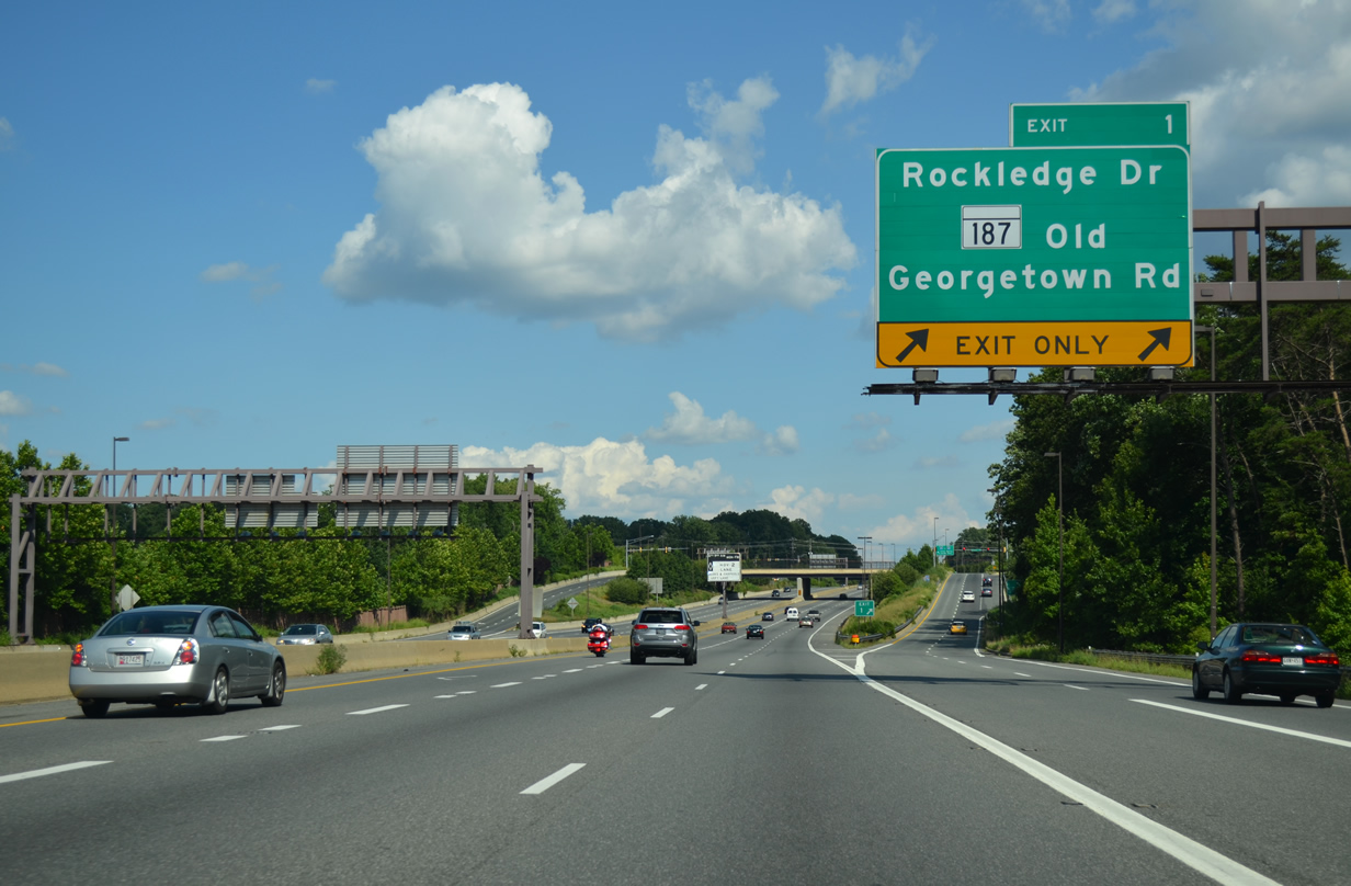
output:
{"label": "thick solid white line dividing through lanes from the exit lane", "polygon": [[[880,647],[885,648],[885,647]],[[812,650],[816,652],[816,650]],[[1210,879],[1225,883],[1225,885],[1243,885],[1243,886],[1279,886],[1277,881],[1263,877],[1262,874],[1254,871],[1250,867],[1239,864],[1233,859],[1216,852],[1215,850],[1197,843],[1196,840],[1186,837],[1177,831],[1163,827],[1162,824],[1142,816],[1140,813],[1123,806],[1111,797],[1100,794],[1086,785],[1081,785],[1069,775],[1065,775],[1044,763],[1040,763],[1031,756],[1011,748],[998,739],[990,737],[981,732],[979,729],[973,729],[971,727],[954,720],[944,713],[923,705],[909,696],[896,692],[890,686],[884,686],[882,683],[874,682],[867,674],[863,673],[863,655],[861,652],[859,667],[851,669],[843,662],[836,662],[830,655],[823,652],[816,652],[827,662],[838,664],[843,670],[854,674],[859,682],[865,683],[869,689],[874,689],[888,698],[901,702],[911,710],[928,717],[934,723],[951,729],[966,740],[985,748],[1001,760],[1023,770],[1025,774],[1031,775],[1036,781],[1042,782],[1051,790],[1055,790],[1070,800],[1082,804],[1086,809],[1100,814],[1112,824],[1117,825],[1128,833],[1133,833],[1140,840],[1148,843],[1150,845],[1171,855],[1177,860],[1182,862],[1192,870],[1209,877]]]}

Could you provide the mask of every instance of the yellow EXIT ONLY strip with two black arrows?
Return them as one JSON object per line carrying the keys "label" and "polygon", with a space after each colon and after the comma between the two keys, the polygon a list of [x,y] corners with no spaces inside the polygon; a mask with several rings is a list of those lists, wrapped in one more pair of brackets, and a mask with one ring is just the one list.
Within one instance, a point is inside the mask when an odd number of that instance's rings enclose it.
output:
{"label": "yellow EXIT ONLY strip with two black arrows", "polygon": [[1190,320],[878,323],[877,366],[1190,366]]}

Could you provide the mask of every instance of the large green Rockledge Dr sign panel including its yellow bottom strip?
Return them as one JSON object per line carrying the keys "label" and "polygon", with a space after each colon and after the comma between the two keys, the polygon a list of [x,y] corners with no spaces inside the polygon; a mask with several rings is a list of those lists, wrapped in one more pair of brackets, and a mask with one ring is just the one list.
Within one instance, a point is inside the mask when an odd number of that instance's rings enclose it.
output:
{"label": "large green Rockledge Dr sign panel including its yellow bottom strip", "polygon": [[877,366],[1192,362],[1175,145],[877,153]]}

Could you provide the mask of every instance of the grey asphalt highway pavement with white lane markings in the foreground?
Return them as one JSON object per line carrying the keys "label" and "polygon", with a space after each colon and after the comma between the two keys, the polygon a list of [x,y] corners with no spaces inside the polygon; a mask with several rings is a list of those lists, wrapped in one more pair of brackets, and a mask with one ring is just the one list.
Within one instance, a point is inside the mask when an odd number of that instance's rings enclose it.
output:
{"label": "grey asphalt highway pavement with white lane markings in the foreground", "polygon": [[817,600],[765,640],[717,612],[689,667],[621,644],[223,716],[0,708],[4,881],[1351,882],[1346,702],[990,656],[978,582],[866,651]]}

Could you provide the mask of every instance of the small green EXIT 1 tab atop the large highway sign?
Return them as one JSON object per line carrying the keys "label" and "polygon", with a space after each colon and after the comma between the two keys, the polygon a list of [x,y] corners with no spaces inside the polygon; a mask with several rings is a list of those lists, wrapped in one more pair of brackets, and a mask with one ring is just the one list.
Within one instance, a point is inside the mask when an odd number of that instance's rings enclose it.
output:
{"label": "small green EXIT 1 tab atop the large highway sign", "polygon": [[1011,104],[1011,147],[1175,145],[1192,150],[1186,101]]}

